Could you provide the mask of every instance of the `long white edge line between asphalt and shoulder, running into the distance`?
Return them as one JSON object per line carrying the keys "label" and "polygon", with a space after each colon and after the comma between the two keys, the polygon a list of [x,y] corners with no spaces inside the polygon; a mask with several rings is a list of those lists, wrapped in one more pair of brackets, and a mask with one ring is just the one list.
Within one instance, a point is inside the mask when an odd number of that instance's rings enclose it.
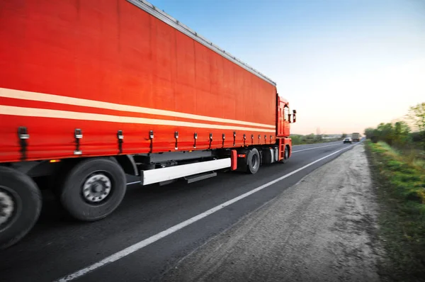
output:
{"label": "long white edge line between asphalt and shoulder, running into the distance", "polygon": [[198,220],[201,220],[203,218],[206,218],[208,215],[211,215],[212,213],[215,213],[219,210],[222,210],[222,208],[227,207],[228,205],[232,205],[232,203],[236,203],[237,201],[242,200],[243,198],[246,198],[258,191],[263,190],[263,188],[267,188],[268,186],[271,186],[273,184],[276,184],[278,181],[281,181],[285,178],[288,178],[289,176],[296,174],[299,171],[302,171],[303,169],[307,169],[307,167],[311,167],[313,164],[316,164],[317,162],[322,161],[323,159],[326,159],[328,157],[333,156],[334,154],[338,154],[339,152],[346,150],[348,148],[351,148],[355,145],[351,145],[348,147],[345,147],[341,150],[335,151],[331,154],[328,154],[327,156],[321,157],[320,159],[315,160],[314,162],[310,162],[310,164],[306,164],[304,167],[300,167],[299,169],[295,169],[294,171],[291,171],[289,174],[285,174],[284,176],[280,176],[278,179],[275,179],[273,181],[270,181],[266,184],[263,184],[249,192],[246,192],[240,196],[237,196],[236,198],[233,198],[232,200],[229,200],[225,203],[222,203],[220,205],[217,205],[215,208],[211,208],[210,210],[207,210],[203,213],[200,213],[199,215],[194,216],[193,218],[189,218],[188,220],[185,220],[183,222],[180,222],[177,225],[174,225],[173,227],[170,227],[167,230],[164,230],[162,232],[159,232],[157,235],[153,235],[152,237],[149,237],[147,239],[144,239],[140,242],[137,242],[136,244],[131,245],[130,247],[127,247],[119,252],[116,252],[115,254],[111,254],[111,256],[107,256],[105,259],[102,259],[101,261],[98,261],[94,264],[91,264],[90,266],[85,267],[84,269],[80,269],[79,271],[75,271],[74,273],[71,273],[67,276],[64,276],[60,278],[58,281],[72,281],[76,278],[79,278],[81,276],[86,275],[87,273],[94,271],[95,269],[98,269],[102,266],[106,266],[106,264],[111,264],[114,261],[118,261],[118,259],[122,259],[125,256],[128,256],[129,254],[132,254],[134,252],[137,252],[138,250],[148,246],[149,244],[152,244],[154,242],[157,242],[159,239],[162,239],[168,235],[173,234],[176,231],[181,230],[183,227],[186,227],[188,225],[191,225],[193,222],[197,222]]}

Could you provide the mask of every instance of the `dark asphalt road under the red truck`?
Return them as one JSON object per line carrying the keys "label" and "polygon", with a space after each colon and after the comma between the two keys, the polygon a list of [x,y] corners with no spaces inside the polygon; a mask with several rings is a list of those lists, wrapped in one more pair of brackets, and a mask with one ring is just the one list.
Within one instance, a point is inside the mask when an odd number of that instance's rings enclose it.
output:
{"label": "dark asphalt road under the red truck", "polygon": [[[294,146],[286,164],[261,167],[255,175],[224,172],[193,184],[133,184],[118,210],[98,222],[67,219],[52,194],[44,191],[37,225],[20,243],[0,253],[1,281],[55,281],[77,271],[74,281],[158,281],[208,239],[349,147],[342,142]],[[259,187],[256,193],[222,208],[223,203]],[[212,208],[216,208],[214,213],[169,230]],[[164,230],[169,231],[162,237]],[[96,264],[105,258],[105,265]]]}

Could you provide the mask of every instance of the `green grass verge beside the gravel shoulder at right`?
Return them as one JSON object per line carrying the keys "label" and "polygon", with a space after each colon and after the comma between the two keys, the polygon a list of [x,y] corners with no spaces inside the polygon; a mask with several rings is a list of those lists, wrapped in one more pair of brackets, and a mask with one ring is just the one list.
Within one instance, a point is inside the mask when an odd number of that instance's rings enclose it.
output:
{"label": "green grass verge beside the gravel shoulder at right", "polygon": [[377,188],[380,274],[392,281],[425,281],[425,169],[384,142],[365,142]]}

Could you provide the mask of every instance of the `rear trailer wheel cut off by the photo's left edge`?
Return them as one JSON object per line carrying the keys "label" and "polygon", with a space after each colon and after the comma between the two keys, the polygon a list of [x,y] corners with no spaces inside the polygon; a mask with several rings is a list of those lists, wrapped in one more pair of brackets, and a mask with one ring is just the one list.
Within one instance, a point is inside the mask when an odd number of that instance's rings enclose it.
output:
{"label": "rear trailer wheel cut off by the photo's left edge", "polygon": [[33,179],[0,167],[0,249],[15,244],[31,230],[41,205],[41,193]]}

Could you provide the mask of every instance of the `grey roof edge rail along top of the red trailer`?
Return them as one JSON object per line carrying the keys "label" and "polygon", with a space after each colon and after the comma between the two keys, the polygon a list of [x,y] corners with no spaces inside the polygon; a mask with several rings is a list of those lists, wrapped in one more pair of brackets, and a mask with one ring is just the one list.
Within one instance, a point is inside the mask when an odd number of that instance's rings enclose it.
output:
{"label": "grey roof edge rail along top of the red trailer", "polygon": [[191,28],[188,28],[187,26],[183,25],[183,23],[177,21],[175,18],[173,18],[169,14],[165,13],[161,9],[158,9],[154,5],[150,4],[148,1],[145,1],[145,0],[127,0],[127,1],[134,4],[135,6],[139,7],[143,11],[150,13],[152,16],[159,18],[159,20],[164,21],[164,23],[168,24],[169,26],[172,26],[172,27],[176,28],[177,30],[181,31],[182,33],[188,35],[190,38],[193,38],[194,40],[198,41],[198,43],[204,45],[205,47],[210,48],[210,50],[217,52],[217,54],[222,55],[226,59],[234,62],[235,64],[239,65],[239,67],[243,67],[248,72],[251,72],[252,74],[255,74],[257,77],[259,77],[259,78],[267,81],[268,83],[276,86],[275,81],[266,77],[264,74],[261,74],[261,72],[257,71],[253,67],[250,67],[248,64],[245,64],[241,60],[237,59],[237,57],[234,57],[229,52],[222,50],[220,47],[218,47],[214,43],[210,42],[206,38],[203,38],[201,35],[196,33],[195,30],[192,30]]}

